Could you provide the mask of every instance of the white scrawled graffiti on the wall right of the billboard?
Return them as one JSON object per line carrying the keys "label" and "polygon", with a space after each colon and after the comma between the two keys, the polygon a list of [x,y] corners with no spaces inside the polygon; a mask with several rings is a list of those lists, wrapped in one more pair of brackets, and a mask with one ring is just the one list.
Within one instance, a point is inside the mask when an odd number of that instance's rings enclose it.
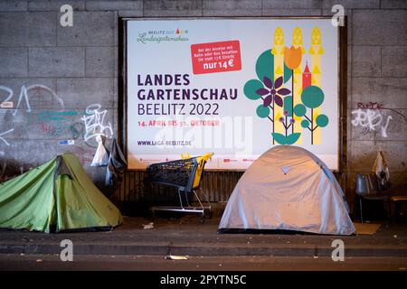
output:
{"label": "white scrawled graffiti on the wall right of the billboard", "polygon": [[384,115],[383,110],[393,111],[397,115],[401,116],[404,119],[404,122],[407,124],[407,118],[393,108],[384,107],[383,104],[377,102],[358,102],[357,109],[352,111],[352,126],[363,127],[363,135],[370,132],[380,132],[382,137],[388,137],[387,130],[393,117]]}

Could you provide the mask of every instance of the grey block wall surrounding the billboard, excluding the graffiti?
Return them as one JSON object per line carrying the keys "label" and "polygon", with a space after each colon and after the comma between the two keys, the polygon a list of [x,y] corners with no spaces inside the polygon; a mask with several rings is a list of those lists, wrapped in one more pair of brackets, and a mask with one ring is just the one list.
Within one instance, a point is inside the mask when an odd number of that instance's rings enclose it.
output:
{"label": "grey block wall surrounding the billboard, excluding the graffiti", "polygon": [[[59,24],[63,4],[74,7],[73,27]],[[348,186],[355,172],[370,171],[379,149],[390,163],[394,183],[407,181],[407,1],[404,0],[0,0],[0,86],[13,91],[14,107],[22,86],[29,91],[14,109],[0,108],[0,176],[26,170],[71,150],[95,181],[103,170],[89,166],[94,148],[84,143],[80,117],[98,104],[107,110],[105,125],[118,127],[118,17],[319,16],[332,5],[348,16]],[[10,90],[10,91],[11,91]],[[0,102],[9,95],[0,89]],[[358,103],[378,102],[389,109],[387,129],[353,126]],[[360,106],[360,104],[359,104]],[[364,110],[365,112],[365,110]],[[355,115],[354,115],[355,116]],[[404,117],[402,117],[404,116]],[[7,132],[11,129],[14,131]],[[59,142],[75,139],[74,145]]]}

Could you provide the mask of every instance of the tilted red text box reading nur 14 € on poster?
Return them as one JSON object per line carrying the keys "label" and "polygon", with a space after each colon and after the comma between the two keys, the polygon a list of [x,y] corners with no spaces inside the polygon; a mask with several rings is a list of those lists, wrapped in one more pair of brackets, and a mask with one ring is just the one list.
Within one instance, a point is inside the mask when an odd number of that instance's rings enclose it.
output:
{"label": "tilted red text box reading nur 14 \u20ac on poster", "polygon": [[208,42],[191,45],[194,74],[241,70],[239,41]]}

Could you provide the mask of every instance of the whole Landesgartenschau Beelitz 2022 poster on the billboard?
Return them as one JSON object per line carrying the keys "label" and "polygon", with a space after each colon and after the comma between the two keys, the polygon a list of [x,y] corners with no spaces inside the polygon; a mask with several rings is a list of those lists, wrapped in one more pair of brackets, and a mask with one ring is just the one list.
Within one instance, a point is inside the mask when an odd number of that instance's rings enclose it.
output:
{"label": "whole Landesgartenschau Beelitz 2022 poster on the billboard", "polygon": [[338,31],[330,19],[130,20],[128,167],[213,153],[245,169],[274,145],[338,169]]}

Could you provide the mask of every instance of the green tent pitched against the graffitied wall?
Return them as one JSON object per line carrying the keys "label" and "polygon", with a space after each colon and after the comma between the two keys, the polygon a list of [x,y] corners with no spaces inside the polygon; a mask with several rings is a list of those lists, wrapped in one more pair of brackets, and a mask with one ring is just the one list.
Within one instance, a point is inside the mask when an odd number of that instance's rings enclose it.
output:
{"label": "green tent pitched against the graffitied wall", "polygon": [[0,228],[49,233],[122,222],[118,208],[91,182],[74,154],[58,155],[0,183]]}

